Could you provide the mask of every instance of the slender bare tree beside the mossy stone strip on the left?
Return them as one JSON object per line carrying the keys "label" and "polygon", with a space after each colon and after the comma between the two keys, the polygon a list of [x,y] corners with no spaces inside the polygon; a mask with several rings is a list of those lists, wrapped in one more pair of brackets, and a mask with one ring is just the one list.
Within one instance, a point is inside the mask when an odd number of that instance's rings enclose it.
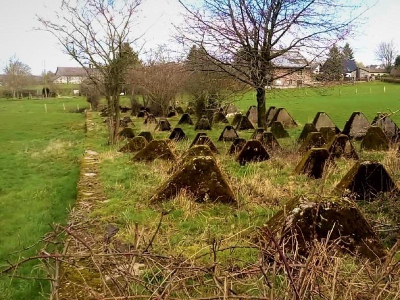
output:
{"label": "slender bare tree beside the mossy stone strip on the left", "polygon": [[[62,0],[56,18],[38,17],[44,30],[56,36],[62,48],[87,72],[107,101],[109,142],[120,125],[120,93],[131,66],[131,26],[142,0]],[[128,47],[129,46],[129,47]],[[92,68],[91,68],[92,67]]]}

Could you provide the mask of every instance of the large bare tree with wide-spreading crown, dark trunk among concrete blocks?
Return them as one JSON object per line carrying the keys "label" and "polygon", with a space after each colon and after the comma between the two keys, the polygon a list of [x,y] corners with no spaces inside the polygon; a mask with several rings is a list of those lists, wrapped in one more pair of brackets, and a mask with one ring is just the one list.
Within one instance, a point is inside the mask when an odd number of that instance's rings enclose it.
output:
{"label": "large bare tree with wide-spreading crown, dark trunk among concrete blocks", "polygon": [[[305,68],[276,74],[275,62],[290,51],[307,52],[312,62],[344,39],[357,16],[357,7],[340,0],[202,0],[186,9],[184,25],[176,26],[177,39],[187,49],[204,50],[203,63],[256,90],[258,126],[265,126],[265,88],[274,80]],[[348,12],[347,18],[344,11]]]}

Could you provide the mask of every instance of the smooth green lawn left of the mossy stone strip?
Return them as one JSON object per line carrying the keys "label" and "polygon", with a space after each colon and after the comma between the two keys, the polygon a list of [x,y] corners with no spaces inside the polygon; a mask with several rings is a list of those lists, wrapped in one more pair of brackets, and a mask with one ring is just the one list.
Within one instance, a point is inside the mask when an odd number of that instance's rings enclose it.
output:
{"label": "smooth green lawn left of the mossy stone strip", "polygon": [[[37,242],[49,224],[65,222],[76,200],[84,116],[68,110],[77,104],[86,105],[83,99],[0,99],[1,265],[33,255],[37,247],[8,256]],[[34,276],[34,265],[21,274]],[[39,299],[42,288],[48,289],[46,282],[1,278],[0,299]]]}

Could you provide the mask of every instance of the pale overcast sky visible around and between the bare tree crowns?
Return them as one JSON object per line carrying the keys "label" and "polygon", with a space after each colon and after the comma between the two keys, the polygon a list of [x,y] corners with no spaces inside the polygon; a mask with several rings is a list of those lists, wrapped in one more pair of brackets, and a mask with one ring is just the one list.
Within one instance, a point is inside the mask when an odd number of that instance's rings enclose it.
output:
{"label": "pale overcast sky visible around and between the bare tree crowns", "polygon": [[[365,0],[372,6],[377,0]],[[0,18],[0,74],[8,59],[14,54],[32,68],[32,73],[40,75],[46,70],[56,71],[57,66],[77,66],[66,56],[56,39],[50,33],[33,30],[39,24],[35,15],[52,16],[60,0],[0,0],[3,14]],[[171,44],[173,26],[182,20],[182,8],[177,0],[144,0],[140,13],[139,32],[146,31],[146,49],[159,44]],[[8,13],[4,13],[7,11]],[[400,52],[398,34],[400,0],[379,0],[363,18],[365,24],[358,28],[356,37],[348,40],[357,61],[365,65],[377,64],[374,50],[382,41],[394,40]]]}

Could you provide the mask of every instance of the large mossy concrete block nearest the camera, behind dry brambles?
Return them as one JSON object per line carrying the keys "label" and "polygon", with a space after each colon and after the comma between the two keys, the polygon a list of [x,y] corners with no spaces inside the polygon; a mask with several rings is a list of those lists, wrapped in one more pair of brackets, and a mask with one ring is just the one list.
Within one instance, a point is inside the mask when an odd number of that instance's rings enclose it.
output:
{"label": "large mossy concrete block nearest the camera, behind dry brambles", "polygon": [[358,206],[340,197],[305,197],[289,201],[267,223],[280,234],[288,250],[296,248],[307,256],[314,239],[329,245],[339,242],[340,250],[370,260],[383,259],[386,251]]}

